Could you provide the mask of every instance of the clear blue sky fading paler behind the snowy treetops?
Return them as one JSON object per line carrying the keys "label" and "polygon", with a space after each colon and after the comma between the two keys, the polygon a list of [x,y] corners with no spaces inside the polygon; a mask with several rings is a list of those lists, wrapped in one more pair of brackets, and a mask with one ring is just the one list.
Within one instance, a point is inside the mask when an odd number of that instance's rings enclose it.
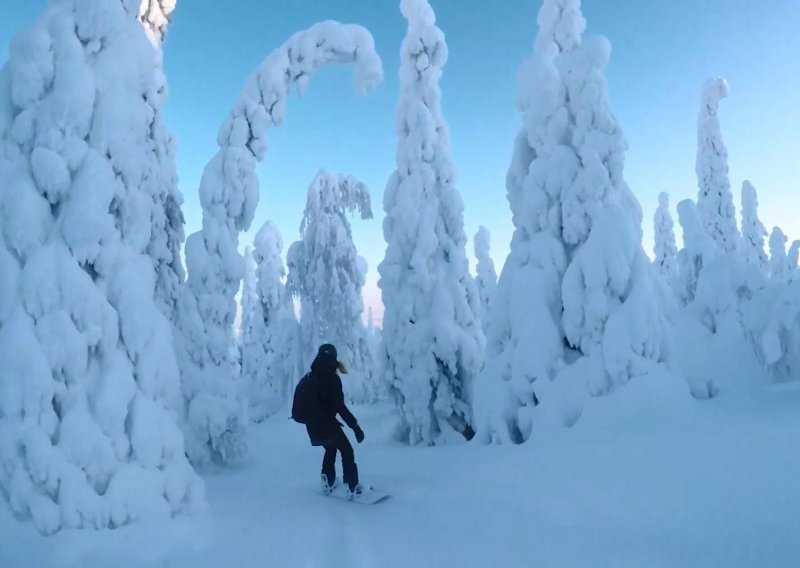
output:
{"label": "clear blue sky fading paler behind the snowy treetops", "polygon": [[[516,73],[536,35],[538,0],[432,0],[450,59],[442,105],[453,138],[457,185],[471,237],[492,233],[499,266],[512,225],[505,175],[520,119]],[[0,60],[13,34],[45,0],[0,0]],[[296,240],[306,189],[319,168],[353,174],[370,187],[376,218],[353,220],[370,265],[365,297],[380,311],[376,267],[385,243],[383,190],[394,168],[397,69],[405,22],[395,0],[182,0],[165,45],[167,120],[178,139],[178,173],[187,234],[200,226],[200,176],[216,151],[216,132],[249,73],[293,32],[316,21],[359,23],[375,36],[385,80],[361,97],[349,69],[320,72],[290,101],[270,132],[259,167],[261,202],[252,241],[267,220],[285,247]],[[588,33],[612,44],[607,71],[611,107],[630,150],[626,178],[644,210],[644,245],[661,191],[674,212],[695,197],[696,117],[702,83],[720,75],[730,95],[720,111],[738,210],[741,182],[756,186],[765,225],[800,238],[800,0],[584,0]],[[678,232],[680,239],[680,233]]]}

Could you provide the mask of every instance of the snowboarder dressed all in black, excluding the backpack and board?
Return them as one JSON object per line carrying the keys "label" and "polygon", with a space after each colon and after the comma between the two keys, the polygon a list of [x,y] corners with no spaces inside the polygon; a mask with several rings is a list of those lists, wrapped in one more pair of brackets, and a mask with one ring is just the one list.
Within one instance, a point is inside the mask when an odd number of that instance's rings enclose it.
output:
{"label": "snowboarder dressed all in black, excluding the backpack and board", "polygon": [[306,422],[308,437],[314,446],[325,448],[322,459],[322,482],[326,491],[330,491],[336,482],[336,452],[342,454],[342,478],[350,493],[361,492],[358,483],[358,466],[356,466],[353,446],[342,431],[342,425],[336,415],[353,430],[360,444],[364,440],[364,431],[358,425],[353,413],[344,403],[342,379],[337,371],[346,373],[344,365],[337,359],[336,347],[326,343],[321,345],[314,362],[311,363],[310,379],[315,384],[317,408]]}

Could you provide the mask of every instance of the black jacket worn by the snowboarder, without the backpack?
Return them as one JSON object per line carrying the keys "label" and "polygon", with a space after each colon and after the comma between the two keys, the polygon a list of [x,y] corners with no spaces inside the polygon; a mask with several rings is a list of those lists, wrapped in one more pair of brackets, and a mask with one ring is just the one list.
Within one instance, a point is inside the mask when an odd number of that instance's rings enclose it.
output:
{"label": "black jacket worn by the snowboarder, without the backpack", "polygon": [[344,403],[342,379],[336,374],[336,366],[336,360],[331,357],[317,357],[311,364],[309,378],[316,383],[317,408],[314,418],[306,423],[306,430],[314,446],[324,445],[341,428],[337,414],[350,428],[358,427],[356,417]]}

